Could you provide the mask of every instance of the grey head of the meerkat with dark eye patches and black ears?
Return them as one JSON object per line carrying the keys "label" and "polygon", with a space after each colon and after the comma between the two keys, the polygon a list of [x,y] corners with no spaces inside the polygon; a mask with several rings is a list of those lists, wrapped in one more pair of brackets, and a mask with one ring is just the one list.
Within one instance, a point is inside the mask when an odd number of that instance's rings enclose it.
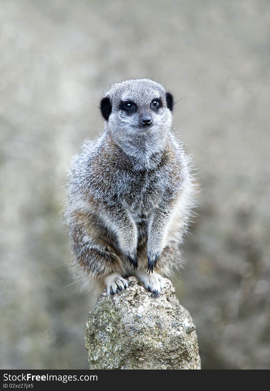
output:
{"label": "grey head of the meerkat with dark eye patches and black ears", "polygon": [[101,100],[107,128],[116,138],[164,133],[172,125],[172,94],[149,79],[113,84]]}

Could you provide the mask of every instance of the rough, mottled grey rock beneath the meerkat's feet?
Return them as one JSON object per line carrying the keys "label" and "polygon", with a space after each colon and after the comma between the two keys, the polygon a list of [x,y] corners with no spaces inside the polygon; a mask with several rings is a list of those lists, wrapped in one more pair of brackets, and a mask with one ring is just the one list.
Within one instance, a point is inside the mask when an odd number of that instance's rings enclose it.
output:
{"label": "rough, mottled grey rock beneath the meerkat's feet", "polygon": [[160,295],[129,278],[129,287],[104,291],[86,323],[90,369],[200,369],[197,335],[170,280]]}

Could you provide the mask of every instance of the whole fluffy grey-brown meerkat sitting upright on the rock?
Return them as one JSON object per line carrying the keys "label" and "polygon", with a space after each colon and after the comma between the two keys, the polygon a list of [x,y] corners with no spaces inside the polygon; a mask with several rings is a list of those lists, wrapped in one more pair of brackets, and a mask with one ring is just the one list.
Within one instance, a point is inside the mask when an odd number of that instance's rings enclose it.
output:
{"label": "whole fluffy grey-brown meerkat sitting upright on the rock", "polygon": [[162,84],[115,83],[100,102],[103,134],[73,157],[65,214],[73,269],[108,294],[127,288],[128,276],[159,294],[163,277],[182,264],[195,189],[172,110]]}

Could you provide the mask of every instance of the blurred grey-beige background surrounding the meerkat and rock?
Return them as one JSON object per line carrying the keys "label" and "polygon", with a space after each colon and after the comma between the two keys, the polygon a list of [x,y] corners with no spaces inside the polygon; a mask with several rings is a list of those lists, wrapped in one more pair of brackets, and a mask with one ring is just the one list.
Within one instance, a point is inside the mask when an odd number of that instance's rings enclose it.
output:
{"label": "blurred grey-beige background surrounding the meerkat and rock", "polygon": [[202,368],[269,368],[269,36],[268,0],[1,1],[1,368],[88,368],[63,183],[103,91],[139,77],[179,100],[202,189],[173,281]]}

